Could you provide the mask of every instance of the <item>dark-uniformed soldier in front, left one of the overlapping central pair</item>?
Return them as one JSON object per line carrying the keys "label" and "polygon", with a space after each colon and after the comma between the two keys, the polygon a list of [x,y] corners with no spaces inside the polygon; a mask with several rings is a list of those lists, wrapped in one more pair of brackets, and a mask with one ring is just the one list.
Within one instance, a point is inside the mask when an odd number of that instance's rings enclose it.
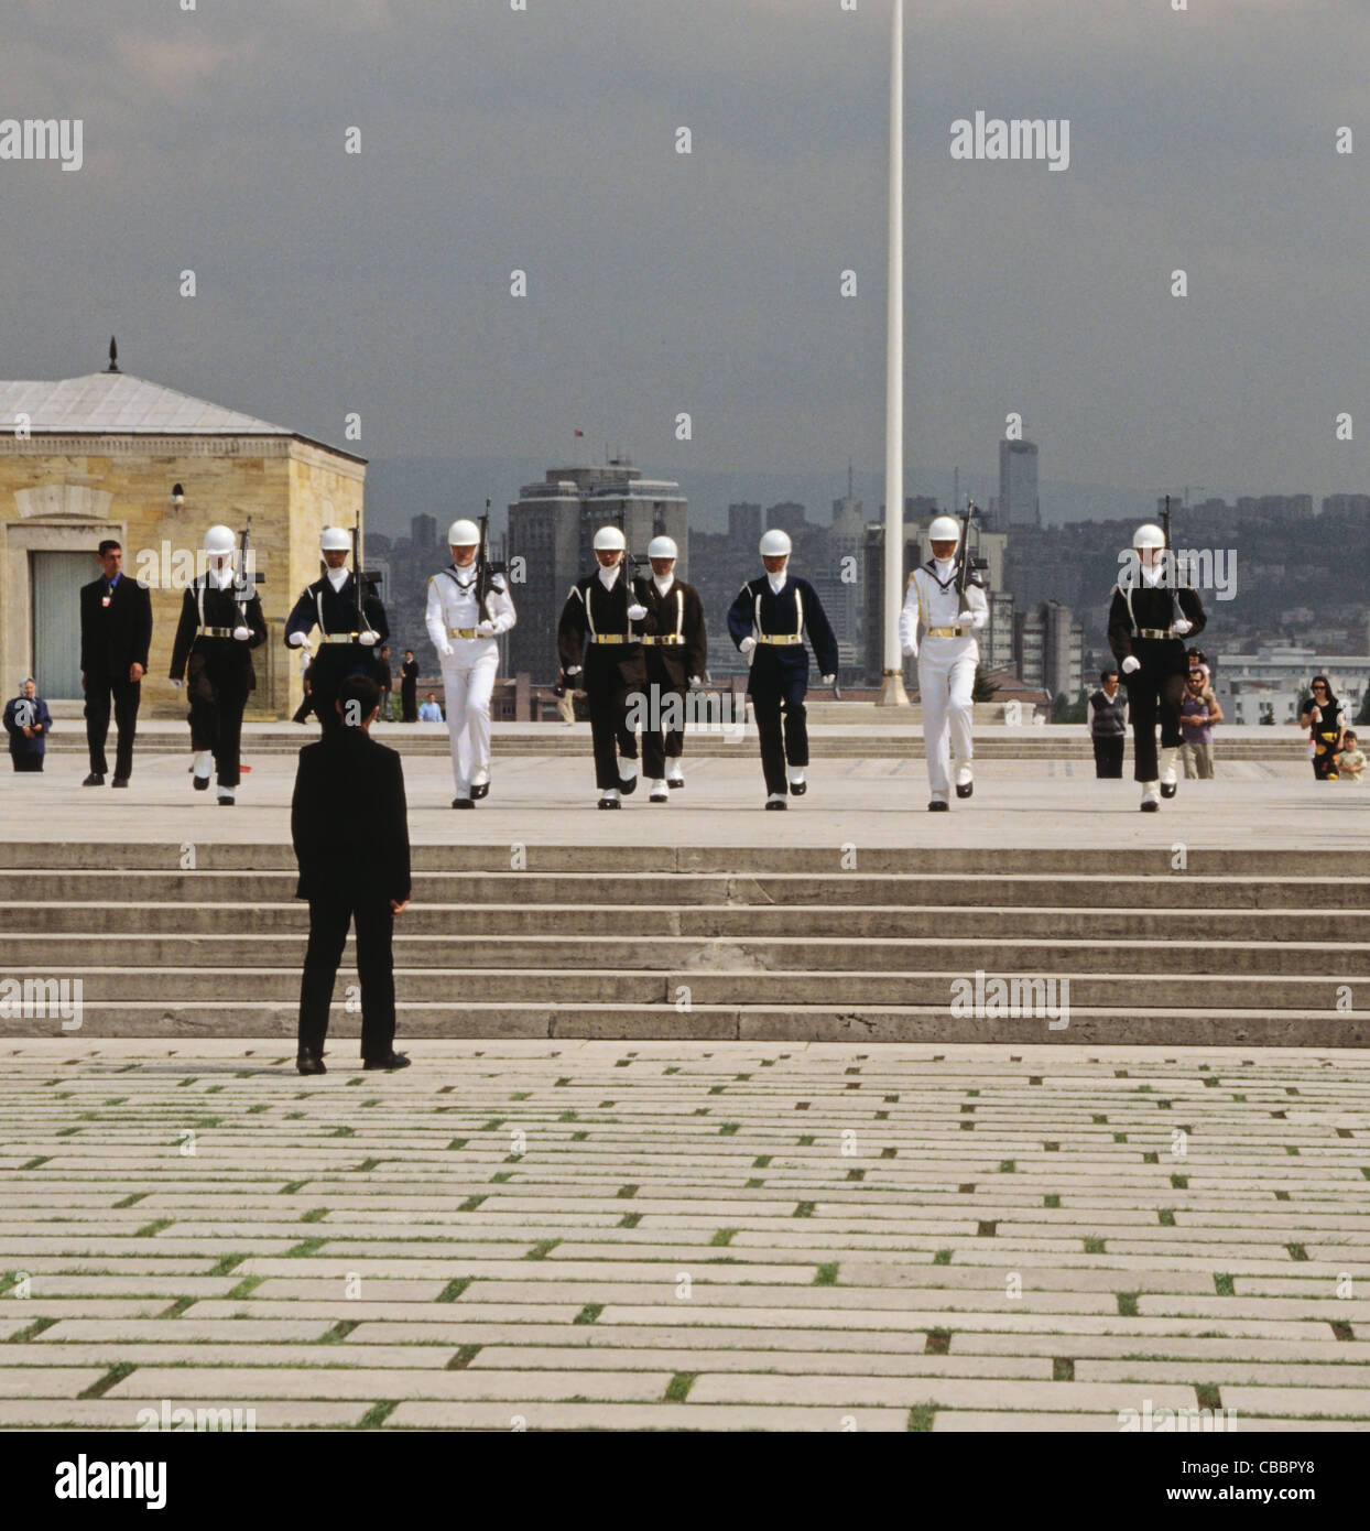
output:
{"label": "dark-uniformed soldier in front, left one of the overlapping central pair", "polygon": [[628,540],[618,527],[594,534],[599,570],[571,586],[557,628],[566,678],[582,675],[594,741],[594,779],[602,808],[621,808],[637,790],[637,735],[628,727],[629,695],[643,695],[647,666],[641,637],[657,631],[651,597],[625,568]]}

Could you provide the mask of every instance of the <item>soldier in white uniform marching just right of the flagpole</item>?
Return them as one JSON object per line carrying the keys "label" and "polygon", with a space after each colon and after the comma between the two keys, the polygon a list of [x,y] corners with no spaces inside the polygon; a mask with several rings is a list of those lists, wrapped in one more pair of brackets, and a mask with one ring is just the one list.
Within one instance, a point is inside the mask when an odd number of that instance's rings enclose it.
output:
{"label": "soldier in white uniform marching just right of the flagpole", "polygon": [[[928,753],[928,782],[932,788],[931,813],[951,807],[951,756],[955,761],[958,798],[975,790],[970,770],[972,692],[980,645],[975,634],[989,622],[989,603],[980,585],[966,582],[967,612],[961,612],[957,591],[957,544],[961,528],[954,516],[935,516],[928,528],[932,557],[909,574],[908,596],[899,619],[899,638],[906,655],[918,660],[918,698],[923,704],[923,746]],[[964,556],[964,550],[963,550]],[[921,631],[921,641],[920,641]]]}

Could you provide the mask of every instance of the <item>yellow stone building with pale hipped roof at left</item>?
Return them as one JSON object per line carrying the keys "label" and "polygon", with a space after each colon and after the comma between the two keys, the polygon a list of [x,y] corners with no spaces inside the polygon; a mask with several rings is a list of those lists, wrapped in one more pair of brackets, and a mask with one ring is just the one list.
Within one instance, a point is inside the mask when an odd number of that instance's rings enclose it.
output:
{"label": "yellow stone building with pale hipped roof at left", "polygon": [[[142,712],[184,717],[167,684],[182,589],[204,566],[205,528],[251,517],[268,640],[256,651],[250,718],[288,717],[298,666],[283,629],[318,577],[318,533],[361,517],[366,462],[282,426],[115,369],[0,381],[0,683],[35,675],[51,701],[80,700],[78,589],[104,537],[152,588]],[[384,596],[384,591],[381,591]]]}

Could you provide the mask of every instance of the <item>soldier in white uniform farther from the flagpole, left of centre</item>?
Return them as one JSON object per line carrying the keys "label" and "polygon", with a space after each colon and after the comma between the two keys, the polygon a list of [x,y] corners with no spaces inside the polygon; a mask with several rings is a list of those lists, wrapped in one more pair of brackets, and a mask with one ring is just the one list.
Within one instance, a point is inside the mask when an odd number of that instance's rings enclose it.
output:
{"label": "soldier in white uniform farther from the flagpole, left of centre", "polygon": [[476,553],[481,528],[453,521],[452,563],[429,580],[424,622],[442,663],[447,733],[452,739],[453,808],[475,808],[490,792],[490,697],[499,669],[501,632],[514,625],[514,603],[502,574],[491,574],[481,599]]}

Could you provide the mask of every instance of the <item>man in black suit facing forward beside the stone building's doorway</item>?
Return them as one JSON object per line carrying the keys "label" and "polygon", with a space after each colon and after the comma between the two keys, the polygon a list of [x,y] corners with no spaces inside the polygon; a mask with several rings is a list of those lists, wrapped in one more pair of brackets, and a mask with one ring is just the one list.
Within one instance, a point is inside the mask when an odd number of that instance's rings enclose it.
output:
{"label": "man in black suit facing forward beside the stone building's doorway", "polygon": [[127,787],[152,646],[152,597],[147,586],[122,573],[124,550],[113,537],[99,544],[98,557],[99,579],[81,586],[81,690],[86,692],[86,743],[90,747],[90,775],[81,785],[104,785],[109,769],[104,738],[113,697],[118,744],[112,785]]}

